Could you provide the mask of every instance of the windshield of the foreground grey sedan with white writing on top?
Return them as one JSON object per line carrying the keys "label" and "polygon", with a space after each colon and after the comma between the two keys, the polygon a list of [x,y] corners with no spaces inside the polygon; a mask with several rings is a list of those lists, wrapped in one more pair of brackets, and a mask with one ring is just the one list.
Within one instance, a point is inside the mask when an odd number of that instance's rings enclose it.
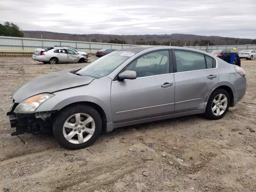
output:
{"label": "windshield of the foreground grey sedan with white writing on top", "polygon": [[134,54],[135,52],[130,51],[114,51],[97,59],[96,61],[92,62],[92,64],[89,64],[76,73],[82,76],[101,78],[110,74],[118,66],[120,66],[120,64]]}

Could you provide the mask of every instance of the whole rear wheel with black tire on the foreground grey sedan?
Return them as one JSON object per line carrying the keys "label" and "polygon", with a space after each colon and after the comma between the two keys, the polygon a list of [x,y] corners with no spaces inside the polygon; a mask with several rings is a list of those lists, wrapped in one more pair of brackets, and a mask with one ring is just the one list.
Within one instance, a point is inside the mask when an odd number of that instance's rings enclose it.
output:
{"label": "whole rear wheel with black tire on the foreground grey sedan", "polygon": [[[221,98],[219,98],[219,96],[221,94],[222,94],[222,96],[221,96]],[[223,101],[225,97],[226,97],[225,102],[222,102],[222,103],[219,102],[220,100]],[[215,100],[216,104],[213,103],[214,100]],[[218,105],[219,105],[219,108],[218,108]],[[229,96],[228,92],[224,89],[216,89],[216,90],[214,90],[214,92],[212,92],[212,94],[208,100],[204,115],[208,119],[212,119],[212,120],[220,119],[226,114],[229,106],[230,106],[230,96]],[[218,115],[218,111],[219,111],[219,115]]]}

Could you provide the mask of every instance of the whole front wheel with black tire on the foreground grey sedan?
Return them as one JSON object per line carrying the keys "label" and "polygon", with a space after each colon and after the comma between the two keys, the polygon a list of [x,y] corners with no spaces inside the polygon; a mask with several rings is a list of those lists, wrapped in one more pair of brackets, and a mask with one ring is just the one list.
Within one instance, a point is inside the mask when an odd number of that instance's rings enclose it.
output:
{"label": "whole front wheel with black tire on the foreground grey sedan", "polygon": [[[64,124],[70,128],[64,127]],[[71,150],[92,145],[100,136],[101,130],[102,120],[98,112],[91,106],[82,104],[60,110],[53,123],[54,137],[61,146]]]}

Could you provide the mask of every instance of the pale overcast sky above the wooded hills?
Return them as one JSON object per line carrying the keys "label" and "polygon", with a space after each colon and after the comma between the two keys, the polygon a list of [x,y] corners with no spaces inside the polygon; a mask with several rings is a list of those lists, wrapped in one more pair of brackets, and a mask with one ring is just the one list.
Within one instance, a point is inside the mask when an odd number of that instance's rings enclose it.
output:
{"label": "pale overcast sky above the wooded hills", "polygon": [[72,34],[256,39],[256,0],[0,0],[0,23]]}

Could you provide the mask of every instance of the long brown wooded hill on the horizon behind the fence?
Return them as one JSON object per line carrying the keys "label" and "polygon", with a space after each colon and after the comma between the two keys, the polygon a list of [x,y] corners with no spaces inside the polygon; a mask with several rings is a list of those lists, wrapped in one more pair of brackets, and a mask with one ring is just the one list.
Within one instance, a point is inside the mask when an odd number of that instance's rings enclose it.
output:
{"label": "long brown wooded hill on the horizon behind the fence", "polygon": [[199,36],[192,34],[163,34],[163,35],[108,35],[108,34],[66,34],[48,31],[23,31],[24,37],[87,41],[90,42],[113,42],[122,44],[150,44],[150,45],[236,45],[236,44],[256,44],[256,40],[230,38],[220,36]]}

